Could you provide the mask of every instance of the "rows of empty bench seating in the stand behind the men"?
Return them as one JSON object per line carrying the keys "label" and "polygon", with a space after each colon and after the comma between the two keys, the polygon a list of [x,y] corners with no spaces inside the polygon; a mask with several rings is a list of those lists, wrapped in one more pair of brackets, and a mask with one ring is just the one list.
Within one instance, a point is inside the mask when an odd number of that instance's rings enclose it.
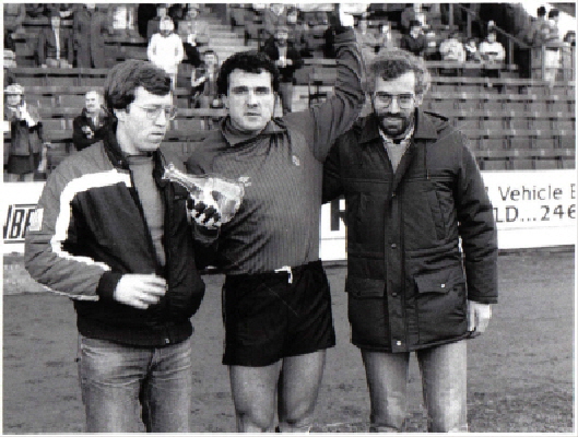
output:
{"label": "rows of empty bench seating in the stand behind the men", "polygon": [[[211,48],[221,60],[239,50],[256,49],[262,44],[262,11],[248,3],[228,5],[226,16],[217,15],[211,4],[203,7],[203,19],[211,32]],[[461,7],[460,7],[461,8]],[[367,16],[368,28],[378,32],[384,17]],[[399,20],[399,19],[398,19]],[[468,14],[467,26],[474,15]],[[399,21],[388,16],[393,39],[399,42]],[[54,147],[48,151],[48,172],[72,151],[72,119],[83,106],[86,91],[102,86],[108,69],[40,69],[35,63],[35,42],[40,28],[49,25],[46,16],[26,16],[24,32],[15,35],[17,68],[11,69],[17,83],[26,87],[31,103],[42,113],[45,135]],[[469,32],[458,25],[432,20],[436,40],[449,32]],[[335,83],[335,61],[323,58],[323,32],[316,25],[306,33],[311,57],[295,73],[293,108],[304,109],[327,98]],[[146,40],[138,35],[114,34],[105,37],[106,56],[110,64],[129,58],[146,58]],[[439,111],[467,134],[482,169],[515,170],[523,168],[575,168],[576,97],[575,71],[559,71],[558,81],[548,84],[538,75],[520,78],[514,62],[514,44],[507,45],[507,61],[497,67],[499,78],[481,76],[483,63],[427,61],[433,73],[432,90],[424,109]],[[574,48],[571,49],[574,54]],[[573,55],[574,56],[574,55]],[[457,76],[439,75],[439,70],[458,68]],[[179,108],[166,135],[166,146],[185,158],[192,144],[201,141],[223,109],[190,108],[190,66],[181,64],[175,90]],[[571,79],[568,79],[571,78]],[[10,135],[4,132],[4,143]],[[164,146],[165,146],[164,145]],[[4,155],[7,151],[4,146]]]}

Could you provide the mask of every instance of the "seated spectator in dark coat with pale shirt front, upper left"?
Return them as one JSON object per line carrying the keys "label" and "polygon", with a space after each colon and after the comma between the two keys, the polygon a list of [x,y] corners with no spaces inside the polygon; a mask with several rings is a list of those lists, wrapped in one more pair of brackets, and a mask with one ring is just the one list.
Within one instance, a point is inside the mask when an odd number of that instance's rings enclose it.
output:
{"label": "seated spectator in dark coat with pale shirt front, upper left", "polygon": [[60,26],[58,11],[50,12],[50,28],[43,28],[38,37],[38,61],[42,68],[72,68],[74,44],[70,29]]}

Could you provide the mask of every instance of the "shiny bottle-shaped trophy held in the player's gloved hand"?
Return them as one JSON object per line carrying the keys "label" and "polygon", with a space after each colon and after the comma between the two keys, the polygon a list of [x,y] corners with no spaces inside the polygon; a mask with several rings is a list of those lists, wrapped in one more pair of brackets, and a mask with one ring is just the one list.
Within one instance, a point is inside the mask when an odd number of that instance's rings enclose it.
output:
{"label": "shiny bottle-shaped trophy held in the player's gloved hand", "polygon": [[194,202],[216,206],[221,212],[221,223],[229,222],[236,214],[245,194],[244,178],[238,180],[215,175],[187,175],[173,164],[165,167],[163,179],[181,185],[189,191]]}

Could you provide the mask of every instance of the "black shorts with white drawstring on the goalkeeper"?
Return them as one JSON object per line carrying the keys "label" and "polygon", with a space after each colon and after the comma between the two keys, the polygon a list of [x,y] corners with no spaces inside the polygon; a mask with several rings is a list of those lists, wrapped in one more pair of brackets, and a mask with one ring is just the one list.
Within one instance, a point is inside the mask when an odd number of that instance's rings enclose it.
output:
{"label": "black shorts with white drawstring on the goalkeeper", "polygon": [[268,366],[335,345],[331,296],[321,261],[290,274],[227,275],[223,285],[223,364]]}

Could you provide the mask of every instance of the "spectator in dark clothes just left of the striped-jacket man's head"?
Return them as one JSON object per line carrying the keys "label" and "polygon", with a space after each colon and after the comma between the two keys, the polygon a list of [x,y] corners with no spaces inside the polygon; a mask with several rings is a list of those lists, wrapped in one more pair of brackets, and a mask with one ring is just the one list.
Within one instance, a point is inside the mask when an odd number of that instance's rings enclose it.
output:
{"label": "spectator in dark clothes just left of the striped-jacket man's head", "polygon": [[78,151],[86,149],[105,138],[108,117],[102,108],[102,96],[97,91],[89,91],[82,114],[72,121],[72,142]]}

